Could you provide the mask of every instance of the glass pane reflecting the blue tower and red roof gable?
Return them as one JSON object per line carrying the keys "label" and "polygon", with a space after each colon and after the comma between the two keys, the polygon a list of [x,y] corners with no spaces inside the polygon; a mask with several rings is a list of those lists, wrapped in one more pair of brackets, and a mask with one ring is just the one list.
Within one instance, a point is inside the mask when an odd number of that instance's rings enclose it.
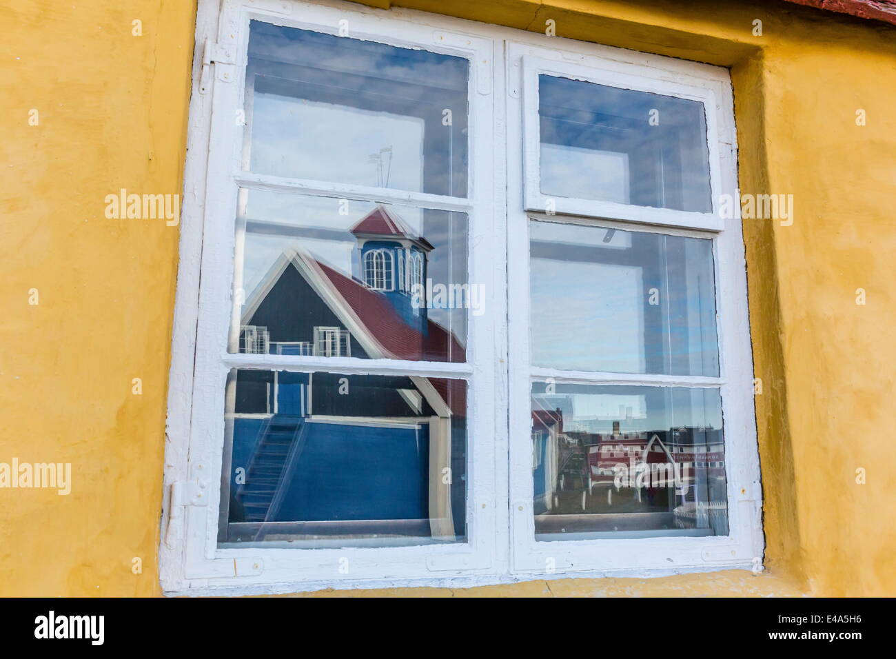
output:
{"label": "glass pane reflecting the blue tower and red roof gable", "polygon": [[231,352],[466,360],[467,216],[243,190]]}

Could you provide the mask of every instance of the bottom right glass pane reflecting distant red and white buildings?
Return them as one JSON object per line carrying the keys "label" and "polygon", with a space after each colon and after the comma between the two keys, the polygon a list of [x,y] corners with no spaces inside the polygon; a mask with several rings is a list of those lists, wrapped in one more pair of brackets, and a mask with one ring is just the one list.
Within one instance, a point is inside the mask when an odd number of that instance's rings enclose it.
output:
{"label": "bottom right glass pane reflecting distant red and white buildings", "polygon": [[538,540],[727,535],[719,389],[532,385]]}

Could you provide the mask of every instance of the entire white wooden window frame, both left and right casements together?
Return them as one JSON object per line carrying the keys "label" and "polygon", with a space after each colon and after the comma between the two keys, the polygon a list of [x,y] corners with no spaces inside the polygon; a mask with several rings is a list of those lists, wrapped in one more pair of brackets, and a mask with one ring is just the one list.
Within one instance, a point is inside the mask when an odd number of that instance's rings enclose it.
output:
{"label": "entire white wooden window frame, both left and right casements together", "polygon": [[[338,34],[340,21],[347,20],[349,38],[469,58],[468,197],[244,171],[243,129],[234,117],[243,108],[250,19],[330,34]],[[573,73],[567,66],[582,69]],[[533,192],[538,187],[527,186],[530,163],[525,168],[526,178],[519,163],[529,162],[524,158],[531,158],[533,147],[536,157],[538,154],[537,134],[527,131],[525,144],[522,139],[523,96],[530,107],[538,108],[537,98],[523,93],[527,80],[523,72],[531,74],[545,67],[564,75],[594,76],[587,79],[595,81],[608,80],[601,76],[609,74],[637,75],[650,84],[687,86],[689,89],[682,93],[703,90],[697,95],[702,94],[700,98],[713,104],[712,112],[707,111],[711,159],[717,159],[711,160],[713,203],[718,201],[717,193],[734,192],[737,169],[731,88],[727,72],[717,67],[429,13],[402,9],[386,12],[338,0],[199,0],[168,395],[159,557],[166,593],[288,593],[323,587],[459,587],[606,574],[659,576],[748,568],[754,566],[754,557],[762,556],[761,492],[739,217],[719,221],[702,213],[685,213],[685,218],[676,211],[645,211],[641,207],[604,205],[602,214],[617,221],[599,222],[602,226],[676,235],[699,230],[705,237],[706,230],[714,232],[719,271],[717,312],[721,317],[719,379],[723,381],[732,533],[710,538],[534,542],[529,221],[532,212],[546,211],[547,206]],[[531,121],[532,115],[528,117]],[[518,164],[508,167],[508,163]],[[235,319],[238,327],[238,314],[229,299],[233,290],[239,291],[242,286],[234,279],[234,255],[237,260],[242,258],[241,236],[245,231],[245,226],[234,220],[241,216],[239,211],[245,204],[245,195],[237,195],[239,188],[466,212],[470,226],[469,281],[482,284],[485,291],[485,313],[468,316],[467,362],[228,353],[228,345],[235,343],[233,330],[228,328],[234,326]],[[600,203],[567,200],[556,205],[556,212],[588,216],[599,207]],[[513,255],[510,259],[508,250]],[[410,263],[405,264],[405,271],[410,278]],[[513,345],[513,351],[508,351],[509,345]],[[467,542],[340,550],[259,546],[219,549],[220,475],[222,470],[229,471],[229,465],[222,464],[221,459],[224,391],[231,368],[466,380]],[[565,381],[576,381],[574,374],[564,377],[569,378]],[[585,377],[593,380],[593,374]],[[620,374],[614,384],[644,379],[650,378]],[[694,378],[652,379],[665,386],[698,384]],[[347,574],[340,570],[346,559]]]}

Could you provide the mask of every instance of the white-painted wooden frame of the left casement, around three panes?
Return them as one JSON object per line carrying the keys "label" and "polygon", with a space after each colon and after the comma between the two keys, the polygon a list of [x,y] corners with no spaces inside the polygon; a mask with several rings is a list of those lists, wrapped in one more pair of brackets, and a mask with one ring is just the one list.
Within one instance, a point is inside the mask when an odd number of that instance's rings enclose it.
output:
{"label": "white-painted wooden frame of the left casement, around three panes", "polygon": [[[497,568],[506,533],[495,535],[499,499],[495,487],[495,319],[504,314],[504,286],[495,253],[474,250],[495,230],[493,172],[493,39],[456,31],[457,23],[434,25],[414,13],[395,13],[339,2],[298,0],[201,0],[196,25],[196,56],[191,125],[185,170],[181,262],[175,309],[175,336],[168,400],[165,507],[160,544],[160,577],[168,593],[296,592],[327,586],[354,588],[401,582],[433,583],[449,578],[476,581]],[[470,60],[468,196],[453,197],[374,186],[335,184],[254,174],[243,169],[243,104],[248,28],[251,20],[338,35],[348,26],[352,39],[396,47],[424,48]],[[345,21],[348,21],[345,23]],[[242,258],[245,213],[240,189],[325,195],[386,204],[416,204],[467,213],[470,282],[483,285],[484,308],[469,314],[467,362],[364,360],[351,357],[255,355],[228,352],[236,345],[230,304],[242,282],[234,277]],[[503,206],[502,206],[503,207]],[[201,262],[199,255],[202,255]],[[498,255],[503,261],[504,256]],[[200,277],[202,273],[202,277]],[[201,282],[201,283],[200,283]],[[496,296],[495,291],[501,295]],[[236,308],[236,310],[235,310]],[[238,320],[237,320],[238,327]],[[262,546],[220,549],[221,473],[225,437],[225,386],[230,369],[448,377],[467,382],[467,540],[407,547],[275,549]],[[506,501],[506,496],[504,496]],[[505,516],[504,516],[505,518]],[[504,524],[504,523],[502,523]],[[345,568],[348,566],[348,569]]]}

